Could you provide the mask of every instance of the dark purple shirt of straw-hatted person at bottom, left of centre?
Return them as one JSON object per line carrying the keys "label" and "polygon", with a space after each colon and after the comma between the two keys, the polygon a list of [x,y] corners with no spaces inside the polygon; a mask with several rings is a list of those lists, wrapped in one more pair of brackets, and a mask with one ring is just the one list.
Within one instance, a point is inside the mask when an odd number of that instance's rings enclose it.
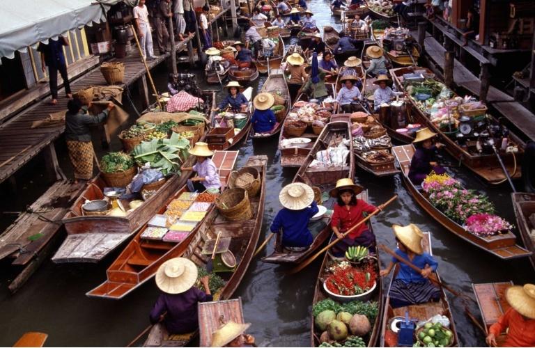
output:
{"label": "dark purple shirt of straw-hatted person at bottom, left of centre", "polygon": [[188,333],[199,329],[197,317],[197,303],[212,301],[212,295],[207,295],[196,287],[191,287],[181,294],[160,294],[153,310],[150,311],[150,322],[156,324],[160,315],[167,312],[164,325],[171,334]]}

